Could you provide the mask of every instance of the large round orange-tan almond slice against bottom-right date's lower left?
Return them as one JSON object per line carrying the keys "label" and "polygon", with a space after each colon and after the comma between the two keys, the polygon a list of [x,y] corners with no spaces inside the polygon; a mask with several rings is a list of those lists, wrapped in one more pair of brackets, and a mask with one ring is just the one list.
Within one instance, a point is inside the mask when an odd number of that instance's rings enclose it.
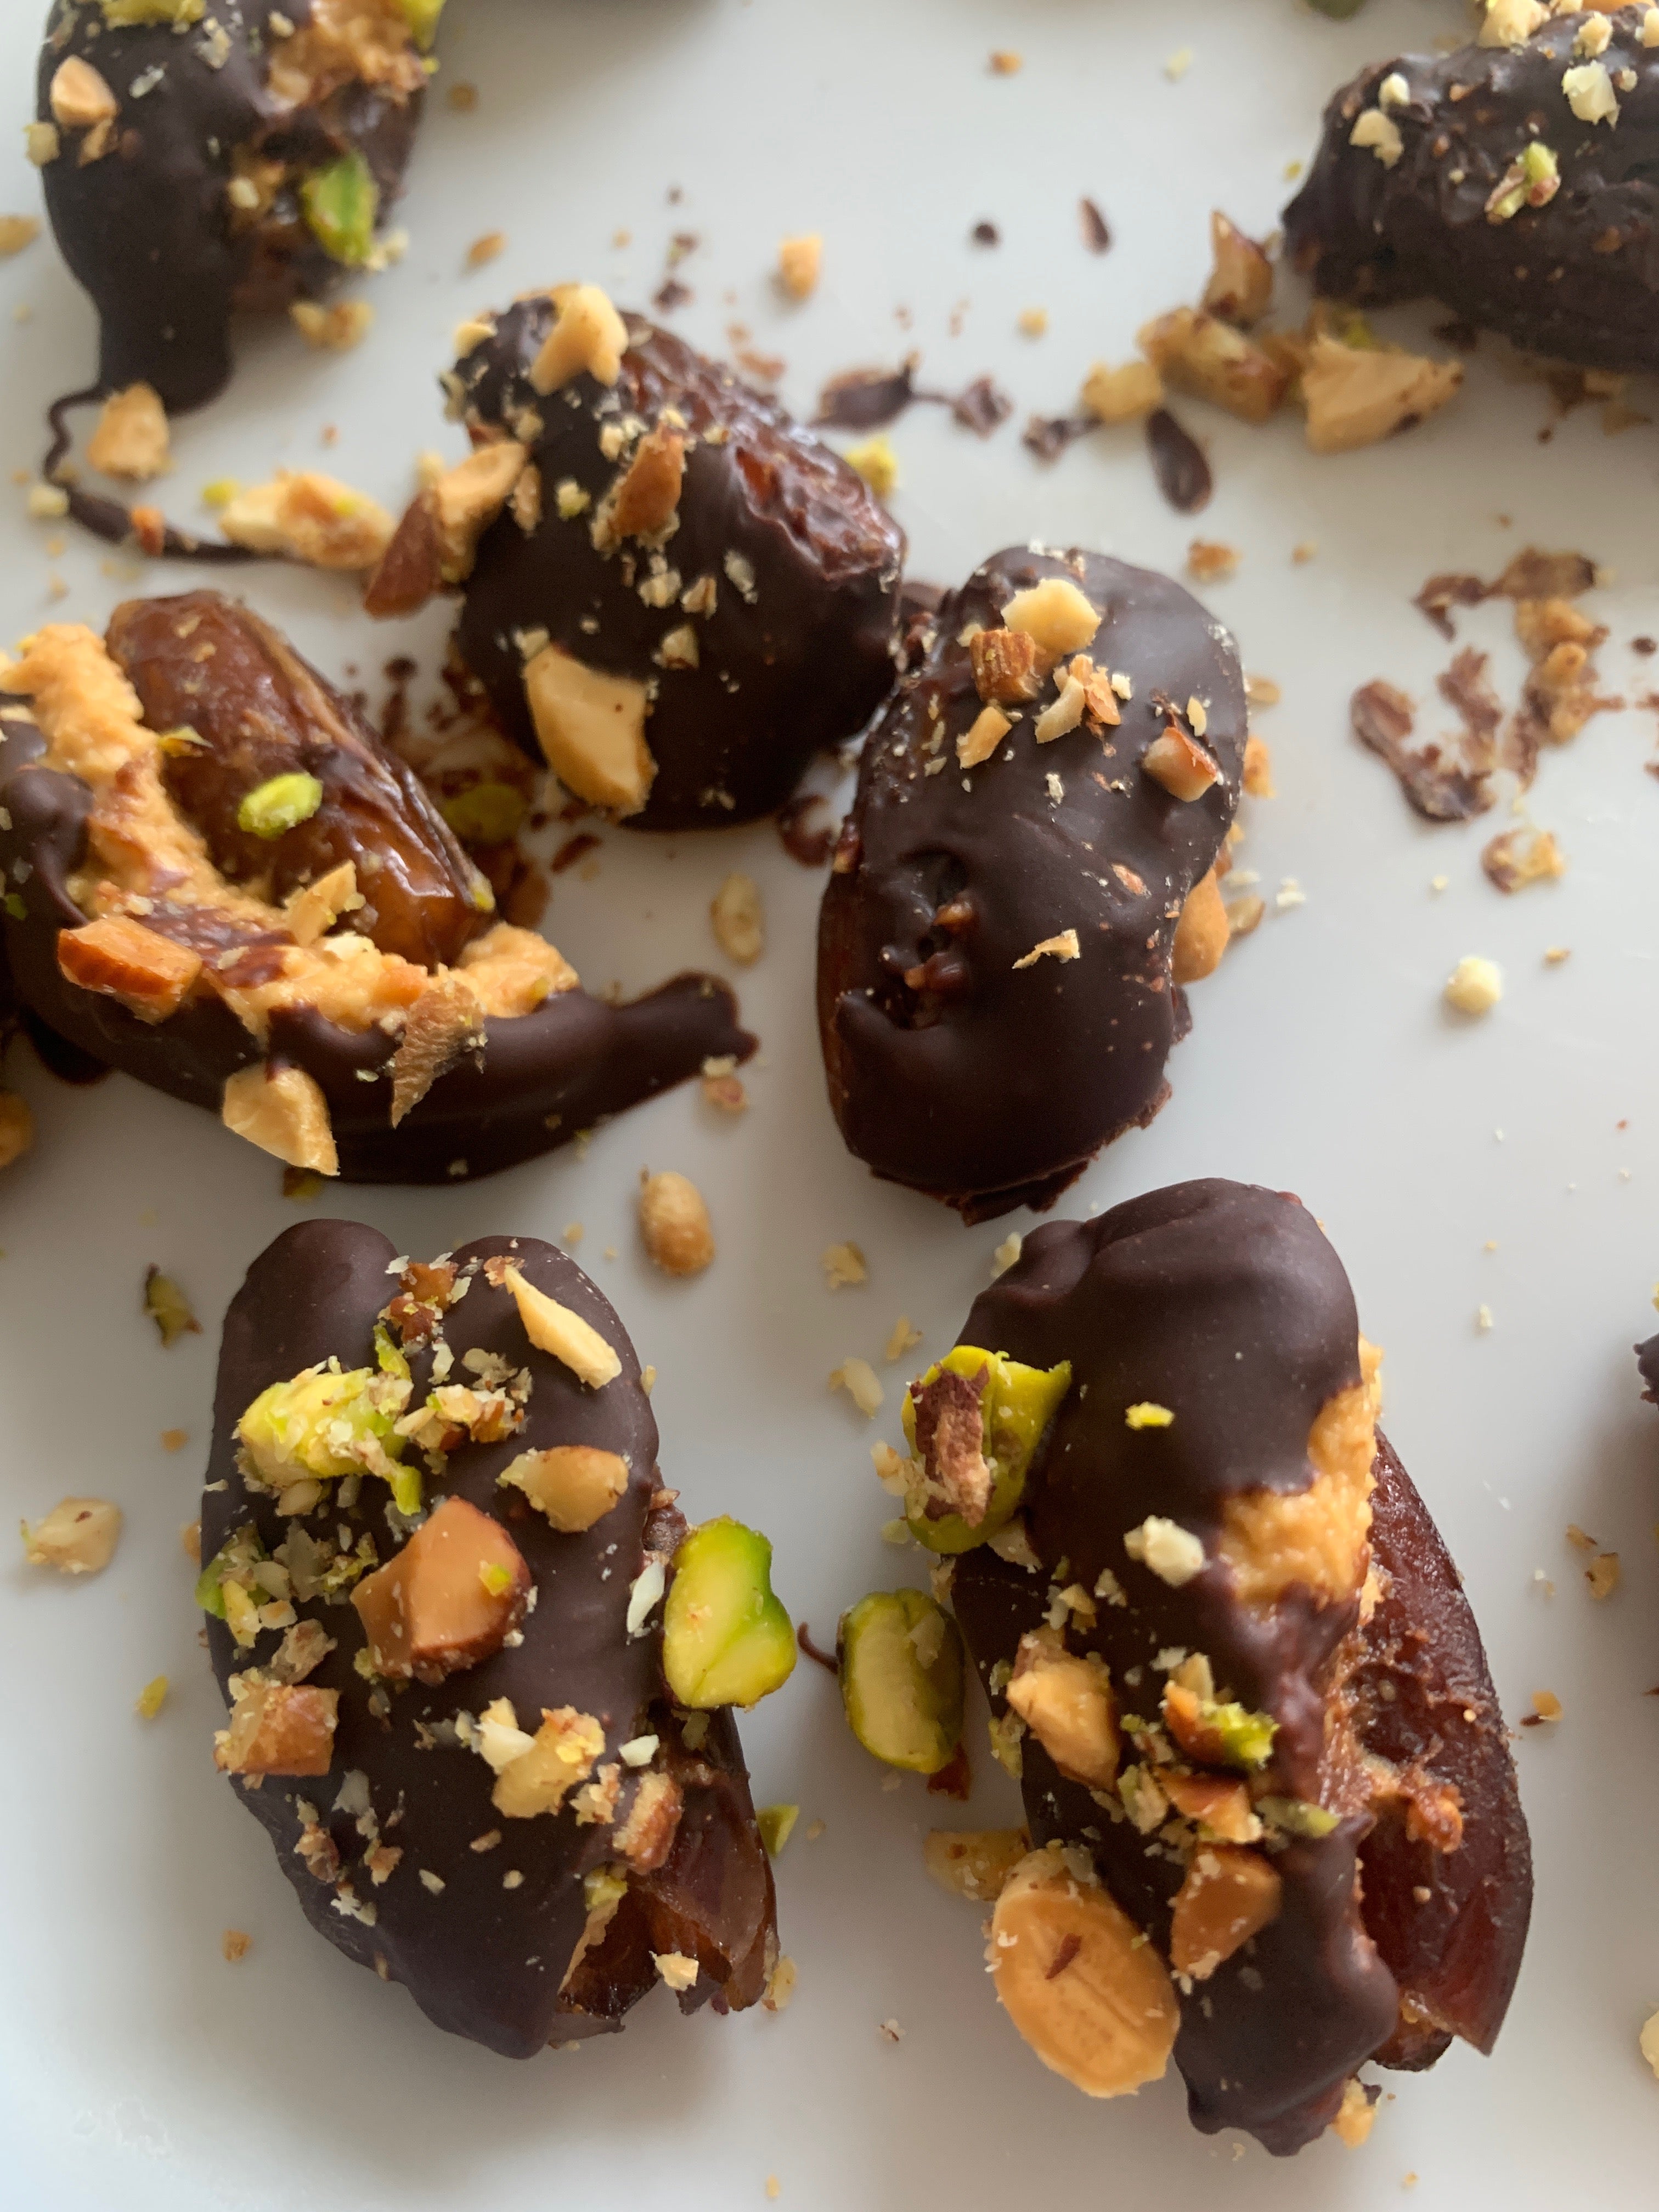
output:
{"label": "large round orange-tan almond slice against bottom-right date's lower left", "polygon": [[1168,1971],[1086,1865],[1057,1849],[1022,1858],[991,1913],[987,1962],[1053,2073],[1091,2097],[1161,2079],[1179,2024]]}

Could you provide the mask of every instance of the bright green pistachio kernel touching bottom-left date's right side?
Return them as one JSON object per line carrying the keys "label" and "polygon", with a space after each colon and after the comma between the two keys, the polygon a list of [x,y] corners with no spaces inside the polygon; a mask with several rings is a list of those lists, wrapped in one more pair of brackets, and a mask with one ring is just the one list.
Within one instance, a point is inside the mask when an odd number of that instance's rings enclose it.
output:
{"label": "bright green pistachio kernel touching bottom-left date's right side", "polygon": [[703,1522],[675,1553],[661,1666],[679,1705],[757,1705],[794,1672],[794,1628],[772,1595],[772,1546],[730,1515]]}

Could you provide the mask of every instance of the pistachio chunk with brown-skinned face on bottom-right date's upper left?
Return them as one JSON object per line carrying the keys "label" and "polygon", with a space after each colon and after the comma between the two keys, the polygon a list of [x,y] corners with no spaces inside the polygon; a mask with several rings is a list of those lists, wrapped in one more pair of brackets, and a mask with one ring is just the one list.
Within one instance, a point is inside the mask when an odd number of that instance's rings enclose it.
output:
{"label": "pistachio chunk with brown-skinned face on bottom-right date's upper left", "polygon": [[1024,1367],[958,1345],[905,1394],[905,1517],[927,1551],[989,1542],[1020,1511],[1037,1444],[1071,1389],[1071,1363]]}

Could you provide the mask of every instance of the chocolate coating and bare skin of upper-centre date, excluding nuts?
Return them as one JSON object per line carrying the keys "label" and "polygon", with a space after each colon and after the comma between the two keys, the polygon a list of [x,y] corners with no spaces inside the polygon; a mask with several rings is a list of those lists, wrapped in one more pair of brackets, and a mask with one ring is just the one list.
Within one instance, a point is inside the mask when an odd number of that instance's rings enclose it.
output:
{"label": "chocolate coating and bare skin of upper-centre date, excluding nuts", "polygon": [[[542,520],[524,535],[502,513],[484,531],[456,630],[460,657],[502,728],[535,759],[515,633],[544,630],[591,668],[657,681],[646,719],[657,779],[626,827],[708,830],[772,814],[814,752],[860,730],[894,681],[905,533],[776,400],[639,316],[628,316],[615,387],[577,376],[538,394],[529,367],[551,325],[549,299],[518,301],[453,372],[453,398],[473,431],[518,434],[524,409],[542,422],[529,440]],[[657,427],[664,409],[697,440],[664,557],[686,588],[714,580],[712,615],[688,617],[677,602],[646,606],[635,588],[646,549],[628,540],[622,553],[602,555],[593,509],[571,522],[557,513],[564,480],[595,507],[611,489],[619,462],[599,451],[606,422],[637,416]],[[726,431],[723,442],[710,445],[710,429]],[[728,575],[728,555],[754,571],[752,604]],[[653,661],[668,630],[688,619],[699,666]]]}

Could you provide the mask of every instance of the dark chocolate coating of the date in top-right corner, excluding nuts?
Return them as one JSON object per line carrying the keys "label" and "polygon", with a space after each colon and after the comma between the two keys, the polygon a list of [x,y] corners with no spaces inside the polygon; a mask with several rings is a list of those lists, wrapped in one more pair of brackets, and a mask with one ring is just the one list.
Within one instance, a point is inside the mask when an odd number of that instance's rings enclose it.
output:
{"label": "dark chocolate coating of the date in top-right corner, excluding nuts", "polygon": [[[1318,155],[1285,210],[1287,254],[1336,299],[1427,292],[1528,352],[1659,367],[1659,49],[1641,44],[1646,13],[1608,15],[1599,62],[1615,80],[1635,71],[1615,93],[1613,128],[1579,122],[1562,93],[1584,15],[1544,24],[1524,46],[1396,55],[1363,71],[1325,108]],[[1411,97],[1387,111],[1405,150],[1385,168],[1349,135],[1391,73]],[[1486,201],[1533,139],[1557,157],[1559,190],[1489,221]]]}

